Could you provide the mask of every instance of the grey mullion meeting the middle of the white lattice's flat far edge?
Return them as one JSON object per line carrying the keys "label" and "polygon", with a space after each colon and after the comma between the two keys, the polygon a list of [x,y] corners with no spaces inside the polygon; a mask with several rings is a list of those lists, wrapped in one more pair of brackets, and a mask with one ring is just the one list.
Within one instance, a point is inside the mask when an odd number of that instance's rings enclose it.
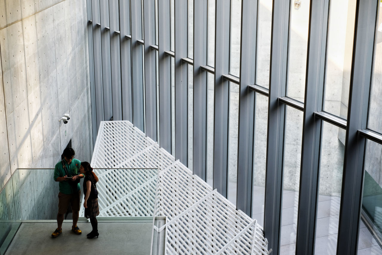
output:
{"label": "grey mullion meeting the middle of the white lattice's flat far edge", "polygon": [[[110,30],[119,30],[119,5],[118,2],[109,1]],[[122,120],[121,103],[121,47],[118,33],[110,33],[110,59],[112,78],[112,110],[113,120]]]}

